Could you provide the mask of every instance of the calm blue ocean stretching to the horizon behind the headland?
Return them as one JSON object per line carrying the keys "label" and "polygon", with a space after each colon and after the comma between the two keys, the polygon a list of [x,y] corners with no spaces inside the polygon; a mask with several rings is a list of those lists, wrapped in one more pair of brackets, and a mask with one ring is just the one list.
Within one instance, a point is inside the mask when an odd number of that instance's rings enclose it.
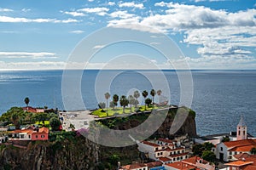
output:
{"label": "calm blue ocean stretching to the horizon behind the headland", "polygon": [[[128,95],[135,89],[142,92],[160,87],[159,74],[166,77],[169,87],[162,88],[164,94],[171,94],[171,104],[180,105],[181,85],[176,71],[103,71],[102,77],[96,70],[84,71],[77,89],[80,96],[70,98],[61,94],[63,71],[0,71],[0,114],[12,106],[25,106],[29,97],[31,106],[66,110],[63,99],[69,99],[69,110],[91,110],[98,102],[105,102],[104,89],[110,94]],[[199,135],[228,133],[236,131],[241,115],[247,123],[248,133],[256,136],[256,71],[191,71],[193,77],[193,100],[191,108],[196,112],[196,126]],[[76,71],[73,71],[76,74]],[[114,75],[111,79],[108,75]],[[151,75],[151,79],[145,77]],[[70,78],[71,81],[73,77]],[[109,80],[110,79],[110,80]],[[78,87],[79,87],[78,86]],[[68,88],[68,87],[67,87]],[[63,88],[62,88],[63,90]],[[158,90],[158,89],[155,89]],[[76,92],[74,92],[76,93]],[[63,98],[62,98],[63,97]],[[143,105],[143,98],[139,99]]]}

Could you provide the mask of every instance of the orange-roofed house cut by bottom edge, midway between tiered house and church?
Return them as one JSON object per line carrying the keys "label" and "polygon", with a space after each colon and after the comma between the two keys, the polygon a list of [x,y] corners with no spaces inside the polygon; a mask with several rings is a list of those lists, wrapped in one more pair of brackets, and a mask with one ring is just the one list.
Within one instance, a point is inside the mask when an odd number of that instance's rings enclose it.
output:
{"label": "orange-roofed house cut by bottom edge, midway between tiered house and church", "polygon": [[173,163],[167,163],[164,165],[167,170],[190,170],[190,169],[200,169],[200,170],[214,170],[215,165],[201,159],[199,156],[193,156],[188,159],[177,161]]}

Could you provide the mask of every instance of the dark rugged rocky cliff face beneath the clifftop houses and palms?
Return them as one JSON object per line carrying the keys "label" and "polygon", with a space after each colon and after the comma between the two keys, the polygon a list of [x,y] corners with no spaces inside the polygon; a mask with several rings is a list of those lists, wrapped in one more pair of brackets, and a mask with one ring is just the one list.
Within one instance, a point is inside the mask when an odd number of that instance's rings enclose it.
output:
{"label": "dark rugged rocky cliff face beneath the clifftop houses and palms", "polygon": [[[169,129],[175,118],[177,110],[169,111],[166,120],[151,138],[169,137],[173,135],[196,135],[195,112],[189,111],[189,116],[177,133],[170,134]],[[113,128],[128,129],[136,127],[142,121],[134,116],[126,122],[118,122]],[[109,120],[110,121],[110,120]],[[113,120],[112,120],[113,121]],[[3,169],[115,169],[117,161],[124,163],[138,160],[137,145],[123,148],[108,148],[92,143],[83,136],[56,136],[54,142],[30,142],[26,149],[12,145],[0,145],[0,170]],[[106,162],[110,162],[106,164]],[[102,163],[103,162],[103,163]]]}

